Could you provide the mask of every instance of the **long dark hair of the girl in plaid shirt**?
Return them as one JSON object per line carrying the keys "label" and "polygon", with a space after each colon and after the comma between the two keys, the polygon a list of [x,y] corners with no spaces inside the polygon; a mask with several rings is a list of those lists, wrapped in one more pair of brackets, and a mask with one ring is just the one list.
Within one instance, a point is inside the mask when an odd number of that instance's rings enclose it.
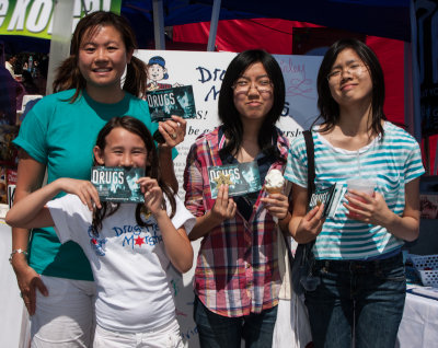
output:
{"label": "long dark hair of the girl in plaid shirt", "polygon": [[[227,68],[219,94],[219,119],[223,124],[223,130],[228,138],[228,142],[220,152],[235,154],[241,147],[243,125],[240,114],[234,105],[233,85],[243,72],[256,62],[263,65],[274,84],[274,104],[260,129],[257,139],[258,146],[262,149],[262,152],[268,155],[274,155],[277,160],[284,161],[276,146],[277,129],[275,124],[279,119],[285,106],[285,80],[278,62],[272,55],[262,49],[249,49],[242,51],[234,57]],[[273,137],[275,137],[274,143]]]}

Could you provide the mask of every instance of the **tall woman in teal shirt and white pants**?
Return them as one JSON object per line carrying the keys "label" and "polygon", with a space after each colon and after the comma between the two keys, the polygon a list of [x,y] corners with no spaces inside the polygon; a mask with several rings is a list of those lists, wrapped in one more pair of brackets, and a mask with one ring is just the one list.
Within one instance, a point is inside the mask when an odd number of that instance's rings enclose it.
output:
{"label": "tall woman in teal shirt and white pants", "polygon": [[[62,176],[89,179],[96,135],[114,116],[139,118],[153,132],[148,105],[138,97],[147,81],[146,65],[132,56],[136,47],[119,15],[99,11],[78,23],[71,55],[57,70],[58,93],[33,107],[14,141],[20,148],[16,200],[42,185],[46,169],[48,183]],[[173,167],[172,148],[184,139],[185,121],[174,117],[159,130],[165,140],[159,146],[161,165]],[[176,192],[174,171],[165,175]],[[31,314],[33,345],[90,347],[94,283],[81,248],[60,245],[53,229],[35,229],[27,243],[28,234],[13,229],[11,263]]]}

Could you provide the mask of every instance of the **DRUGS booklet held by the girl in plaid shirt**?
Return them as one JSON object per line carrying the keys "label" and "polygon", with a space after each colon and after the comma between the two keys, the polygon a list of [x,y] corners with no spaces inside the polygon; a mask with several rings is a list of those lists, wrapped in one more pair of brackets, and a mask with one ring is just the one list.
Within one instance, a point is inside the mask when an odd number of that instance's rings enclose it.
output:
{"label": "DRUGS booklet held by the girl in plaid shirt", "polygon": [[208,167],[211,198],[218,197],[220,185],[228,185],[228,196],[240,196],[262,189],[257,162]]}

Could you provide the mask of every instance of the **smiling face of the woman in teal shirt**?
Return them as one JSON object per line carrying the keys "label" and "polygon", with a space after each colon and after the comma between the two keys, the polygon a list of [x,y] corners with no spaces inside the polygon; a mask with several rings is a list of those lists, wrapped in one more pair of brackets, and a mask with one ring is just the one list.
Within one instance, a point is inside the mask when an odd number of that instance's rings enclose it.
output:
{"label": "smiling face of the woman in teal shirt", "polygon": [[84,35],[78,67],[87,81],[87,92],[97,93],[108,89],[120,91],[120,78],[132,57],[127,53],[120,33],[112,25],[91,28]]}

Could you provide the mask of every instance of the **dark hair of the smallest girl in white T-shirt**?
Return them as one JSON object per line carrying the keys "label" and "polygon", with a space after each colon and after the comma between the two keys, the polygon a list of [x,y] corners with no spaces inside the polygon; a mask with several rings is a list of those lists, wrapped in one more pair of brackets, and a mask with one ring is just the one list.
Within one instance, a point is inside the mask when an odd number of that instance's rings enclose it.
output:
{"label": "dark hair of the smallest girl in white T-shirt", "polygon": [[[107,121],[107,124],[101,129],[101,131],[97,135],[97,140],[96,140],[96,146],[103,151],[106,146],[106,137],[110,135],[110,132],[115,129],[115,128],[124,128],[128,130],[131,134],[135,134],[139,136],[146,146],[146,150],[148,151],[148,164],[145,167],[145,176],[149,176],[152,178],[155,178],[158,181],[158,184],[160,185],[161,189],[163,190],[163,194],[166,196],[171,204],[172,212],[171,212],[171,218],[175,214],[175,209],[176,209],[176,201],[174,192],[172,188],[165,184],[161,179],[161,171],[159,166],[159,158],[157,153],[157,148],[155,144],[152,140],[152,136],[148,128],[145,126],[145,124],[130,116],[123,116],[123,117],[113,117]],[[97,165],[97,162],[94,159],[94,165]],[[136,208],[136,220],[137,223],[141,227],[146,225],[146,222],[141,219],[141,208],[143,207],[143,204],[138,204]],[[93,213],[93,233],[97,236],[99,231],[102,229],[102,221],[106,217],[112,216],[115,213],[119,208],[119,205],[112,205],[106,201],[102,202],[102,208],[101,209],[95,209]],[[162,208],[165,209],[165,201],[163,199],[162,202]]]}

